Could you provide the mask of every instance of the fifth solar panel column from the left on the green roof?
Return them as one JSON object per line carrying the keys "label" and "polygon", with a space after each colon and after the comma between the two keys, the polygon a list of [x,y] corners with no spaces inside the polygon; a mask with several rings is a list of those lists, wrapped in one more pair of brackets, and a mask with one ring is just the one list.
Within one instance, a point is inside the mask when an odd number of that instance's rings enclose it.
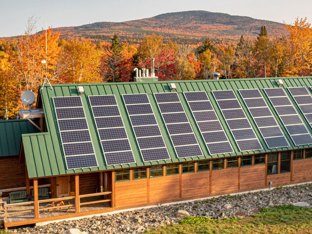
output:
{"label": "fifth solar panel column from the left on the green roof", "polygon": [[210,154],[232,153],[224,129],[204,91],[184,92],[184,96],[200,129]]}

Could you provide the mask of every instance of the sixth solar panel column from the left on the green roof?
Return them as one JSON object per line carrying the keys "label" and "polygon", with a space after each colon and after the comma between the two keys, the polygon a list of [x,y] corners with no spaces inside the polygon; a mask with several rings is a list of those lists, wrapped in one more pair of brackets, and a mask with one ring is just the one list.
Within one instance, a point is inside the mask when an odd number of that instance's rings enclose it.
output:
{"label": "sixth solar panel column from the left on the green roof", "polygon": [[233,90],[212,91],[240,151],[262,149]]}

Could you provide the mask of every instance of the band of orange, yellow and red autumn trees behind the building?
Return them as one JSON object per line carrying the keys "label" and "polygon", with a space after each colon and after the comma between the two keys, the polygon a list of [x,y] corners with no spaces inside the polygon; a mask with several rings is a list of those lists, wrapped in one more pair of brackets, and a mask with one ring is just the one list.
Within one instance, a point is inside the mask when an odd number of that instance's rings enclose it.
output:
{"label": "band of orange, yellow and red autumn trees behind the building", "polygon": [[312,29],[306,19],[286,25],[288,34],[280,37],[269,37],[263,26],[256,39],[245,35],[235,43],[216,43],[207,37],[197,45],[156,34],[131,44],[117,34],[107,41],[60,39],[51,27],[33,32],[33,18],[27,23],[16,41],[0,41],[0,119],[16,118],[24,108],[20,95],[36,93],[46,78],[52,84],[128,82],[134,67],[147,68],[150,75],[151,58],[159,80],[212,79],[214,72],[225,79],[312,75]]}

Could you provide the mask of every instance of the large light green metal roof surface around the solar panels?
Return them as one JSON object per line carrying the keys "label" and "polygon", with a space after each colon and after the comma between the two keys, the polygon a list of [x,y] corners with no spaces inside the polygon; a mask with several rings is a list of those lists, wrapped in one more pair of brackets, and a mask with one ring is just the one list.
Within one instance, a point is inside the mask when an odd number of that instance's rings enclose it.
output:
{"label": "large light green metal roof surface around the solar panels", "polygon": [[[276,83],[277,79],[282,79],[284,82],[283,87],[298,87],[312,86],[312,77],[279,77],[279,78],[253,78],[253,79],[231,79],[231,80],[171,80],[171,81],[154,81],[154,82],[124,82],[124,83],[102,83],[102,84],[68,84],[68,85],[52,85],[53,90],[50,86],[44,86],[42,90],[40,90],[39,98],[42,100],[42,108],[45,112],[46,124],[47,124],[47,133],[39,133],[39,134],[23,134],[23,145],[25,151],[25,157],[28,168],[29,178],[36,177],[45,177],[45,176],[55,176],[55,175],[63,175],[63,174],[71,174],[71,173],[83,173],[83,172],[93,172],[99,170],[110,170],[110,169],[118,169],[118,168],[129,168],[129,167],[138,167],[138,166],[149,166],[154,164],[164,164],[164,163],[178,163],[185,162],[191,160],[198,159],[210,159],[210,158],[220,158],[220,157],[228,157],[228,156],[240,156],[247,154],[259,154],[266,152],[274,152],[281,150],[291,150],[291,149],[302,149],[312,147],[311,145],[300,145],[296,146],[290,135],[287,133],[285,126],[281,124],[279,121],[278,114],[275,112],[272,107],[270,101],[264,93],[264,88],[277,88],[279,87]],[[175,83],[176,90],[171,91],[169,88],[170,83]],[[87,122],[90,128],[91,139],[94,145],[95,154],[98,160],[98,167],[95,168],[83,168],[83,169],[75,169],[75,170],[67,170],[65,157],[62,150],[61,138],[58,130],[58,124],[56,120],[56,113],[53,106],[53,97],[61,97],[61,96],[78,96],[77,88],[78,86],[84,87],[84,94],[80,95],[83,106],[85,109],[85,115],[87,118]],[[285,134],[286,139],[288,140],[290,146],[277,148],[277,149],[269,149],[266,146],[264,139],[261,136],[259,129],[257,128],[253,118],[249,114],[246,105],[241,99],[238,90],[239,89],[259,89],[261,94],[263,95],[266,103],[270,107],[275,119],[277,120],[280,128]],[[243,109],[245,110],[247,118],[250,120],[251,126],[254,129],[256,136],[258,137],[262,148],[261,150],[256,151],[248,151],[248,152],[240,152],[237,144],[225,122],[225,119],[222,116],[222,113],[211,93],[212,90],[234,90],[236,96],[238,97],[239,102],[241,103]],[[211,103],[216,110],[216,113],[225,129],[227,137],[232,144],[234,153],[231,154],[217,154],[210,155],[207,147],[205,145],[204,140],[200,134],[200,131],[197,127],[195,119],[188,107],[188,104],[183,96],[183,92],[186,91],[206,91]],[[194,158],[177,158],[175,151],[173,149],[173,144],[168,135],[167,129],[161,117],[161,114],[158,110],[157,103],[154,99],[153,93],[163,93],[163,92],[177,92],[183,107],[186,111],[186,114],[190,120],[190,123],[193,127],[194,133],[198,139],[199,145],[202,149],[203,156],[194,157]],[[151,102],[152,108],[154,110],[157,122],[159,124],[160,130],[163,134],[163,138],[165,140],[166,146],[168,148],[171,159],[169,160],[161,160],[161,161],[153,161],[153,162],[143,162],[142,157],[139,152],[139,148],[137,142],[135,140],[134,132],[131,128],[131,124],[129,121],[129,117],[127,115],[127,111],[125,109],[125,105],[122,100],[123,94],[139,94],[146,93],[148,94],[149,100]],[[288,92],[286,92],[288,94]],[[105,165],[104,154],[102,152],[102,148],[100,145],[100,139],[97,134],[95,121],[92,117],[92,111],[90,107],[90,103],[88,101],[89,95],[115,95],[120,113],[122,115],[122,119],[124,121],[124,125],[126,128],[126,132],[129,136],[130,145],[132,147],[134,157],[136,163],[116,165],[116,166],[107,166]],[[308,131],[312,134],[312,128],[310,124],[306,121],[300,109],[297,105],[295,105],[294,100],[290,97],[295,109],[298,111],[301,119],[307,126]],[[37,103],[41,103],[40,100],[37,100]],[[38,106],[40,108],[41,106]]]}

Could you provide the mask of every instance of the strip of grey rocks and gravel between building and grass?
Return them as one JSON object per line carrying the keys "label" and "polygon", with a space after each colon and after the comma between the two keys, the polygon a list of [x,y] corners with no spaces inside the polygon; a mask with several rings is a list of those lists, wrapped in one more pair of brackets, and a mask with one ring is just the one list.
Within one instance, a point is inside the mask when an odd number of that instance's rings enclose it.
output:
{"label": "strip of grey rocks and gravel between building and grass", "polygon": [[80,220],[52,223],[41,227],[17,227],[9,229],[9,232],[59,234],[65,233],[67,229],[77,228],[86,233],[140,233],[158,226],[178,223],[182,219],[182,217],[176,217],[179,210],[188,212],[190,216],[210,218],[245,217],[259,212],[261,207],[273,207],[295,202],[312,204],[312,184],[279,187],[270,191],[234,196],[227,195],[209,200],[197,200],[111,215],[94,216]]}

